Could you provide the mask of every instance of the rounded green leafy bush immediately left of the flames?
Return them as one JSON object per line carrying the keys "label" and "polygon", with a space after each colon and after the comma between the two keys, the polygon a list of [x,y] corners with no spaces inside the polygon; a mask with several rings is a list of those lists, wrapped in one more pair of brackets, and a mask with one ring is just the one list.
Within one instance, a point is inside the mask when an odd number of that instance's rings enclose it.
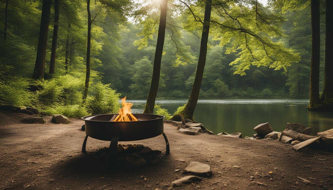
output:
{"label": "rounded green leafy bush immediately left of the flames", "polygon": [[87,96],[85,107],[91,114],[118,113],[120,104],[118,103],[120,94],[112,90],[109,85],[102,83],[91,87],[91,94]]}

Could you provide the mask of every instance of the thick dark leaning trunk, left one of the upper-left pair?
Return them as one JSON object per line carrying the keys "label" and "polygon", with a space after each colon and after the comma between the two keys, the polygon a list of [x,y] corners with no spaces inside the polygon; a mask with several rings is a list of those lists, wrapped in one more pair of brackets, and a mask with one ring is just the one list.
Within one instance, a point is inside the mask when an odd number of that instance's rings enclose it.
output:
{"label": "thick dark leaning trunk, left one of the upper-left pair", "polygon": [[49,32],[51,4],[52,4],[51,0],[43,0],[36,63],[35,63],[34,73],[32,75],[33,79],[44,78],[46,44],[47,44],[47,35]]}

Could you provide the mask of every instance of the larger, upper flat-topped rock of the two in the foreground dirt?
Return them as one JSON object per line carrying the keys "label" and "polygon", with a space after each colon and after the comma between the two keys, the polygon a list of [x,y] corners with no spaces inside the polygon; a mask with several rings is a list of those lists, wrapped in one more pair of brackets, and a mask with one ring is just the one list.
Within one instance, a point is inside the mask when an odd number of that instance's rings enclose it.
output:
{"label": "larger, upper flat-topped rock of the two in the foreground dirt", "polygon": [[196,176],[210,177],[211,169],[210,165],[200,162],[190,162],[184,169],[183,173],[189,173]]}

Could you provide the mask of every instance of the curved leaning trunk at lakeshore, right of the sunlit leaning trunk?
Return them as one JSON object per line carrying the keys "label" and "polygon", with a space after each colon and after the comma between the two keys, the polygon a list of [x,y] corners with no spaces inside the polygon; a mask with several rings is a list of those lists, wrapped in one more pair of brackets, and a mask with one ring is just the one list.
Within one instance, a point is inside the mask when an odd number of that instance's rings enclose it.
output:
{"label": "curved leaning trunk at lakeshore, right of the sunlit leaning trunk", "polygon": [[189,99],[188,99],[183,111],[181,112],[182,116],[185,119],[193,120],[194,109],[195,109],[196,103],[199,98],[199,92],[200,92],[202,76],[203,76],[203,69],[204,69],[205,63],[206,63],[207,43],[208,43],[208,34],[209,34],[209,26],[210,26],[210,12],[211,12],[211,0],[206,0],[198,66],[196,68],[196,74],[195,74],[195,79],[194,79],[191,95],[189,96]]}

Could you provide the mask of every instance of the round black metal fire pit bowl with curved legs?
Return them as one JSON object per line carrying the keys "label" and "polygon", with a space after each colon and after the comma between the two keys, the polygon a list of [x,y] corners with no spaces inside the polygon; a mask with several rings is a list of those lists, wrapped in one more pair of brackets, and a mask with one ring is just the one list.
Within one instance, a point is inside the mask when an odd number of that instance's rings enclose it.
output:
{"label": "round black metal fire pit bowl with curved legs", "polygon": [[143,140],[163,134],[166,141],[166,154],[169,154],[169,142],[163,128],[163,115],[133,114],[138,121],[110,121],[114,115],[118,114],[98,114],[82,117],[85,120],[86,129],[82,152],[86,152],[88,136],[111,141],[109,152],[116,155],[118,141]]}

